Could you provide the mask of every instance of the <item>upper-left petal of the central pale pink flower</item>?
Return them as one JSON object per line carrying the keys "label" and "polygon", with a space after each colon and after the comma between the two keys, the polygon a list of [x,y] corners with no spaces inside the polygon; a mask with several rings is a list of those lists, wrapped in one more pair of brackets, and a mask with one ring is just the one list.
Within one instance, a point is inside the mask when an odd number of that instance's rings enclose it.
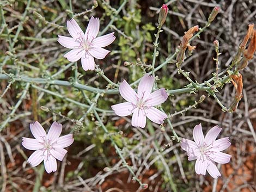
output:
{"label": "upper-left petal of the central pale pink flower", "polygon": [[126,80],[123,80],[122,83],[119,85],[119,92],[121,96],[130,103],[137,103],[137,94],[135,90],[131,88],[131,86],[126,82]]}

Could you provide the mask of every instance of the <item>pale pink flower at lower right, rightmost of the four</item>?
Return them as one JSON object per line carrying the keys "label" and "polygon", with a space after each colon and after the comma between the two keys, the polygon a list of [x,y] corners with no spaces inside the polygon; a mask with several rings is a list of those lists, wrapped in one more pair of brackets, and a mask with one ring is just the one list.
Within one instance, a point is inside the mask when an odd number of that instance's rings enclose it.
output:
{"label": "pale pink flower at lower right, rightmost of the four", "polygon": [[193,129],[194,141],[188,139],[181,140],[181,148],[187,152],[188,160],[196,160],[195,170],[197,174],[206,174],[206,170],[214,177],[220,177],[216,163],[229,163],[230,154],[221,151],[228,148],[231,143],[228,137],[216,140],[221,132],[220,127],[215,126],[206,133],[205,138],[201,124],[196,125]]}

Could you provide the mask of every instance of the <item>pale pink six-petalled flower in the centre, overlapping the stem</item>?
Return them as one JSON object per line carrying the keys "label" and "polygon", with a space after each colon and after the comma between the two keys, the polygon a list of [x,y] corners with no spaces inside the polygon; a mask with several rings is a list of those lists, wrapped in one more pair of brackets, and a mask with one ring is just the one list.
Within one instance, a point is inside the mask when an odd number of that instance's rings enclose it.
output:
{"label": "pale pink six-petalled flower in the centre, overlapping the stem", "polygon": [[151,93],[154,84],[154,77],[148,74],[144,75],[138,85],[138,94],[124,80],[119,85],[121,96],[127,101],[111,106],[118,116],[127,116],[132,114],[132,126],[146,126],[146,117],[151,121],[162,124],[167,115],[161,110],[153,107],[167,100],[167,92],[164,88]]}

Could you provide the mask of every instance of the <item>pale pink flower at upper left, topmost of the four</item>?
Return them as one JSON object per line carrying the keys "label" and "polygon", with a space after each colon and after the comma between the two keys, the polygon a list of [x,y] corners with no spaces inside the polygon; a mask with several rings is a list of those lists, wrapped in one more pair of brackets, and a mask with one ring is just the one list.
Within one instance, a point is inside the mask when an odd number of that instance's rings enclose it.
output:
{"label": "pale pink flower at upper left, topmost of the four", "polygon": [[64,57],[71,62],[81,59],[85,71],[94,70],[94,58],[103,59],[110,52],[102,47],[112,44],[115,40],[114,32],[96,38],[100,29],[100,20],[95,17],[90,18],[86,33],[83,33],[74,18],[66,22],[66,26],[72,38],[58,35],[58,42],[72,50],[66,53]]}

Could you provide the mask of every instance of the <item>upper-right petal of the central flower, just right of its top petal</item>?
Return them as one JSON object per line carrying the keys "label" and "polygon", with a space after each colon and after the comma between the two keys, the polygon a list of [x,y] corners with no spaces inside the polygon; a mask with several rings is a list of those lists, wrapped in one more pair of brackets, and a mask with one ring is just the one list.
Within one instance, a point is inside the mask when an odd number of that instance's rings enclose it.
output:
{"label": "upper-right petal of the central flower, just right of its top petal", "polygon": [[164,88],[152,92],[145,102],[147,106],[157,106],[167,100],[168,94]]}

